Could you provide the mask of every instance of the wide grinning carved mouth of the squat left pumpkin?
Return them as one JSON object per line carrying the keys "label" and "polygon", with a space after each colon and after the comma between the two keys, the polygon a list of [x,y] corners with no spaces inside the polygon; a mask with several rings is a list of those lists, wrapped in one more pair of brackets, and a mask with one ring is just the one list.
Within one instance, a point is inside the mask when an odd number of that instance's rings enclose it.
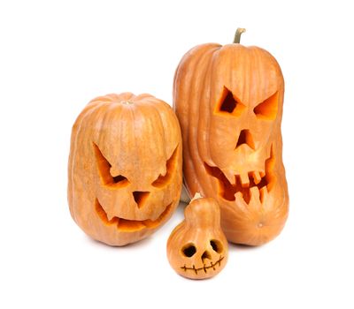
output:
{"label": "wide grinning carved mouth of the squat left pumpkin", "polygon": [[159,215],[158,219],[152,221],[150,219],[147,220],[128,220],[128,219],[123,219],[119,218],[118,216],[114,216],[111,220],[108,220],[107,213],[104,211],[104,207],[101,206],[99,201],[96,199],[95,201],[95,209],[97,215],[101,218],[101,220],[104,222],[105,225],[116,225],[117,229],[119,231],[126,231],[126,232],[135,232],[138,230],[142,229],[154,229],[156,228],[164,219],[167,215],[172,210],[172,205],[173,202],[168,204],[165,207],[164,212]]}

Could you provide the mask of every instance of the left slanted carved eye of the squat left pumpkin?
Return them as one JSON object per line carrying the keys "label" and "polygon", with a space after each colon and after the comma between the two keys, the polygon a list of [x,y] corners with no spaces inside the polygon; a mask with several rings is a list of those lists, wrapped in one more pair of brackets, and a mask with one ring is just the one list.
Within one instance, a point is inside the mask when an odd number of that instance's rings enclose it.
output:
{"label": "left slanted carved eye of the squat left pumpkin", "polygon": [[104,157],[102,154],[100,148],[93,143],[94,146],[94,152],[96,156],[96,164],[97,164],[97,169],[98,173],[101,177],[101,181],[104,185],[112,186],[115,188],[121,188],[126,185],[129,185],[129,181],[127,180],[127,177],[124,177],[123,175],[117,175],[113,176],[111,175],[111,163],[108,162],[108,160]]}

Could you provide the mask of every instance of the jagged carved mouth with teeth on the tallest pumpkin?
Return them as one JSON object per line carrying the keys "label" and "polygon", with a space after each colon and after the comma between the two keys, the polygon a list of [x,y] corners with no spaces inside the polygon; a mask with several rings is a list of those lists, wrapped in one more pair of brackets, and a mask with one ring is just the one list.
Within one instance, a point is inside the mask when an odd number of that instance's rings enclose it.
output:
{"label": "jagged carved mouth with teeth on the tallest pumpkin", "polygon": [[241,192],[242,199],[250,204],[250,192],[256,188],[261,203],[264,201],[265,190],[270,192],[275,183],[275,174],[273,172],[275,156],[273,146],[271,154],[265,162],[265,171],[249,171],[246,176],[235,175],[235,184],[231,184],[225,174],[216,166],[210,166],[204,162],[206,172],[218,179],[218,194],[224,200],[235,200],[235,194]]}

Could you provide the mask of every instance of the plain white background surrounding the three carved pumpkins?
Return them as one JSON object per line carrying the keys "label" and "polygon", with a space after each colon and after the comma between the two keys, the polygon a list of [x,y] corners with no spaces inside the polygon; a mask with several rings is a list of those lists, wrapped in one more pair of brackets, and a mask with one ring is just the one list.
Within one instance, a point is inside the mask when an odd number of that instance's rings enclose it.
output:
{"label": "plain white background surrounding the three carved pumpkins", "polygon": [[[204,42],[269,50],[286,81],[289,221],[229,246],[211,280],[176,275],[171,221],[122,248],[90,240],[66,201],[72,124],[101,94],[172,103],[173,73]],[[353,308],[353,11],[350,1],[1,1],[1,308]]]}

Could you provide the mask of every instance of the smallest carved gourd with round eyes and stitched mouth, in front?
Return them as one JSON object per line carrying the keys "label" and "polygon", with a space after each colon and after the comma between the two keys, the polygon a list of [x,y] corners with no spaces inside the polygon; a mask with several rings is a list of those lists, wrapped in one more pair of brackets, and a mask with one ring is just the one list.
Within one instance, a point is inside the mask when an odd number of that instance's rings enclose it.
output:
{"label": "smallest carved gourd with round eyes and stitched mouth, in front", "polygon": [[227,263],[227,238],[220,227],[219,205],[196,194],[184,210],[185,220],[167,241],[172,268],[190,279],[210,278]]}

